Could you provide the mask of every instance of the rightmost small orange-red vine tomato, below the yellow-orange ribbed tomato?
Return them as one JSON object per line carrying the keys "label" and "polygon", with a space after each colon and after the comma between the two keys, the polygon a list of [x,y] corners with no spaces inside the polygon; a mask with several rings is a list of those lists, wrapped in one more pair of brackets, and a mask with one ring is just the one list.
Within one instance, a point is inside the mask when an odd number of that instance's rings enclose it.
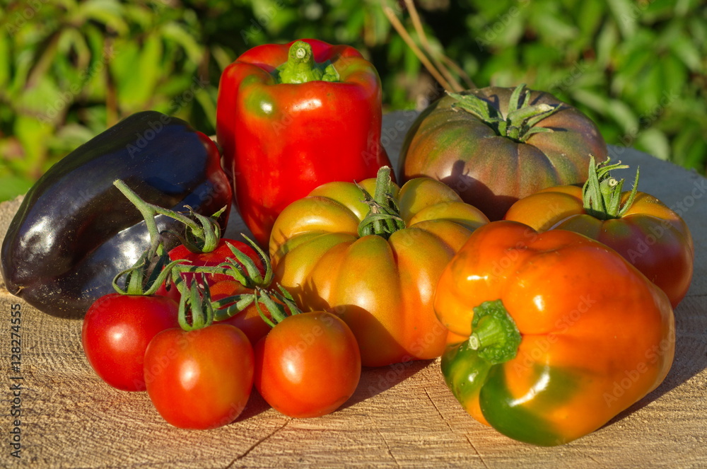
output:
{"label": "rightmost small orange-red vine tomato, below the yellow-orange ribbed tomato", "polygon": [[290,417],[334,412],[354,394],[359,378],[356,337],[332,313],[288,316],[255,347],[255,387]]}

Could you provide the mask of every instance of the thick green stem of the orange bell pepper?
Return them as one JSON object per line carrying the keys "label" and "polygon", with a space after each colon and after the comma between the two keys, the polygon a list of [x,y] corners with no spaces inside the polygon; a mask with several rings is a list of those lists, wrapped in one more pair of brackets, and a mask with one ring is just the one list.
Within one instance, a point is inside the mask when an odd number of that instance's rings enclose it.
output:
{"label": "thick green stem of the orange bell pepper", "polygon": [[474,308],[469,348],[491,364],[515,358],[520,345],[520,331],[501,300],[484,301]]}

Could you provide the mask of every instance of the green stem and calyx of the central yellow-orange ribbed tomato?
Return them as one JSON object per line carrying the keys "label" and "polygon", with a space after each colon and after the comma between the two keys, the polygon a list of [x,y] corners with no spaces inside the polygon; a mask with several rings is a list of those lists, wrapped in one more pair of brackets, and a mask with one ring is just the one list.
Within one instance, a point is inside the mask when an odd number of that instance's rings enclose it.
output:
{"label": "green stem and calyx of the central yellow-orange ribbed tomato", "polygon": [[400,218],[400,209],[397,206],[397,202],[395,202],[395,197],[392,195],[393,185],[388,166],[382,166],[378,170],[373,197],[358,183],[356,183],[356,186],[363,193],[362,202],[370,207],[366,217],[358,224],[358,236],[360,238],[375,234],[387,239],[395,231],[405,228],[405,221]]}

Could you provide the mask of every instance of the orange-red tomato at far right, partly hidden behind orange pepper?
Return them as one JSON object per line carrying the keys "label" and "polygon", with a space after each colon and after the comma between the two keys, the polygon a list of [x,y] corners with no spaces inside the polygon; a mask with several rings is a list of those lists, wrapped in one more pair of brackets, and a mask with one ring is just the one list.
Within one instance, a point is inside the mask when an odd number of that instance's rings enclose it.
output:
{"label": "orange-red tomato at far right, partly hidden behind orange pepper", "polygon": [[539,231],[576,231],[604,243],[660,286],[675,308],[692,280],[690,230],[660,200],[636,191],[638,173],[633,190],[621,192],[624,180],[609,175],[609,170],[617,168],[628,166],[595,166],[592,160],[584,188],[566,185],[541,190],[515,202],[506,219]]}

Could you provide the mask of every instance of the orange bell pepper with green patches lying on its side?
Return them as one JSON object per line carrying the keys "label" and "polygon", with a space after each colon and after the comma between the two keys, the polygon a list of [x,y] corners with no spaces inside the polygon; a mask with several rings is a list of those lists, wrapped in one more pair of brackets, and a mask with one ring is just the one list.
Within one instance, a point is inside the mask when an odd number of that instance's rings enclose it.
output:
{"label": "orange bell pepper with green patches lying on its side", "polygon": [[435,311],[452,334],[441,368],[479,422],[553,446],[602,427],[663,381],[670,301],[607,246],[515,221],[478,228],[445,268]]}

